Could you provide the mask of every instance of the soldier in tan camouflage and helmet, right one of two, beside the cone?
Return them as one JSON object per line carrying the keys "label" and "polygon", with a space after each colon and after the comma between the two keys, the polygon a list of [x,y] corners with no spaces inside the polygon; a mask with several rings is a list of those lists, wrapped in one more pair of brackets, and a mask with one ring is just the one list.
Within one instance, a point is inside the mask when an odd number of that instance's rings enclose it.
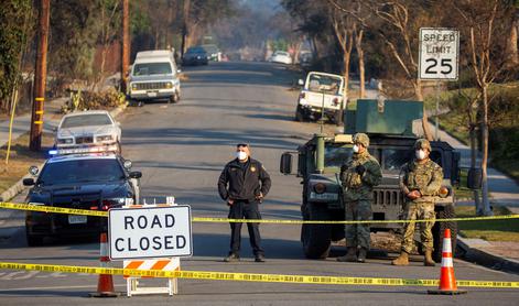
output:
{"label": "soldier in tan camouflage and helmet, right one of two, beside the cone", "polygon": [[[417,157],[402,166],[400,171],[400,188],[406,195],[407,220],[425,219],[420,223],[420,240],[425,253],[423,265],[434,266],[432,259],[434,226],[434,198],[443,182],[443,170],[429,159],[431,144],[428,140],[419,139],[414,143]],[[391,262],[393,265],[408,265],[409,253],[414,241],[414,222],[406,223],[402,237],[402,250],[400,256]]]}

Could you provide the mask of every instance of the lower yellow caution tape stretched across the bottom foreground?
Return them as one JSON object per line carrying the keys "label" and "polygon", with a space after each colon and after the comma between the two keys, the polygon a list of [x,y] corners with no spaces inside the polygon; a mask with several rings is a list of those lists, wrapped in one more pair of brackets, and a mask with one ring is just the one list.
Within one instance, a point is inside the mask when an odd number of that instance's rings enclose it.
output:
{"label": "lower yellow caution tape stretched across the bottom foreground", "polygon": [[[262,282],[262,283],[292,283],[292,284],[322,284],[322,285],[360,285],[360,286],[437,286],[437,280],[415,278],[381,278],[381,277],[348,277],[348,276],[318,276],[318,275],[290,275],[290,274],[259,274],[239,272],[215,271],[162,271],[162,270],[134,270],[118,267],[76,266],[55,264],[33,264],[0,262],[0,269],[30,270],[42,272],[110,274],[167,278]],[[459,287],[479,288],[519,288],[519,282],[495,281],[457,281]]]}

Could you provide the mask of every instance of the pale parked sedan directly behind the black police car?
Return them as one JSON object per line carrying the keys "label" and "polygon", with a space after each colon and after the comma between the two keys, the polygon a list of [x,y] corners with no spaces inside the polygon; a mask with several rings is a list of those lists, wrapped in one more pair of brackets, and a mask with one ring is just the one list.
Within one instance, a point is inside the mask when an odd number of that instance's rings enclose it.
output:
{"label": "pale parked sedan directly behind the black police car", "polygon": [[121,128],[106,110],[65,114],[56,130],[56,149],[109,145],[117,145],[117,151],[121,151]]}

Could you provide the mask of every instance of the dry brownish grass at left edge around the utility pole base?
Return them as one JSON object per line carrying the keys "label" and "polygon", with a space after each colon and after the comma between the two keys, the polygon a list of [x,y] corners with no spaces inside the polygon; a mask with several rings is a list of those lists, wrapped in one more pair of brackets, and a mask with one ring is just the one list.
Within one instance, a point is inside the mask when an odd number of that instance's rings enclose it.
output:
{"label": "dry brownish grass at left edge around the utility pole base", "polygon": [[[42,147],[50,147],[52,145],[53,135],[51,133],[44,133],[42,138]],[[9,165],[6,165],[7,144],[0,147],[0,193],[6,192],[28,174],[28,168],[30,166],[43,163],[46,159],[45,151],[46,150],[42,150],[41,152],[30,151],[29,133],[25,133],[12,142]]]}

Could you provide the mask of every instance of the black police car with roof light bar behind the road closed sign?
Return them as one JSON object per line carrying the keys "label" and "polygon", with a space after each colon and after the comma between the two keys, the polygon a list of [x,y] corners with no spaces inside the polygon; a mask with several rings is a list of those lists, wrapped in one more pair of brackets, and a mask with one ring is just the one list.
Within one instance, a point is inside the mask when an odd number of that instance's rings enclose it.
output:
{"label": "black police car with roof light bar behind the road closed sign", "polygon": [[[131,162],[113,153],[113,147],[53,151],[42,170],[23,184],[32,186],[26,203],[74,209],[108,210],[139,200],[141,172],[130,171]],[[106,230],[106,218],[26,211],[29,245],[40,245],[45,237],[98,234]]]}

